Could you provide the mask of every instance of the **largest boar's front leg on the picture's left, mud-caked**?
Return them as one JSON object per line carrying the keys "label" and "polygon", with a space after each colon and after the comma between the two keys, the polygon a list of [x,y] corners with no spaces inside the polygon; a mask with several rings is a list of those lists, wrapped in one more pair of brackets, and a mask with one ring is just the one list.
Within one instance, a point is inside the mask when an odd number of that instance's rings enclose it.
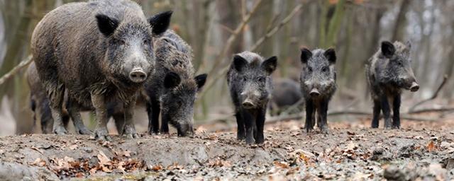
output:
{"label": "largest boar's front leg on the picture's left, mud-caked", "polygon": [[92,103],[96,113],[96,129],[94,129],[94,139],[111,141],[109,131],[107,130],[107,107],[103,95],[92,94]]}

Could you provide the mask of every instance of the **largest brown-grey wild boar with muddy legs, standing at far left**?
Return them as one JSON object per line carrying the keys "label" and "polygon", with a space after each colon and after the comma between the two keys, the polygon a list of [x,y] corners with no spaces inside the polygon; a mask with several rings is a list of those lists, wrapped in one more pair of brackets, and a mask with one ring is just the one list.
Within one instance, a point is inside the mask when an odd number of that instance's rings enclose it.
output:
{"label": "largest brown-grey wild boar with muddy legs, standing at far left", "polygon": [[[54,119],[52,132],[66,134],[62,102],[93,107],[98,124],[96,139],[110,139],[107,104],[123,103],[123,134],[138,137],[133,124],[136,93],[153,71],[152,38],[167,30],[170,16],[145,18],[129,0],[71,3],[50,11],[33,31],[31,52]],[[159,23],[156,23],[159,22]],[[80,118],[77,106],[68,110]]]}

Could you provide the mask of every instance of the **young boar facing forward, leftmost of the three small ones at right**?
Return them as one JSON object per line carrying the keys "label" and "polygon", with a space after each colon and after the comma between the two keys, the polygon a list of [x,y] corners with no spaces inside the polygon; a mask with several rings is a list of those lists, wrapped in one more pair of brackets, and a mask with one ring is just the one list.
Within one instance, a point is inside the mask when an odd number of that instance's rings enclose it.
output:
{"label": "young boar facing forward, leftmost of the three small ones at right", "polygon": [[235,54],[227,73],[235,116],[238,124],[238,139],[246,144],[262,144],[263,125],[268,100],[272,93],[271,74],[277,66],[277,57],[263,59],[253,52]]}

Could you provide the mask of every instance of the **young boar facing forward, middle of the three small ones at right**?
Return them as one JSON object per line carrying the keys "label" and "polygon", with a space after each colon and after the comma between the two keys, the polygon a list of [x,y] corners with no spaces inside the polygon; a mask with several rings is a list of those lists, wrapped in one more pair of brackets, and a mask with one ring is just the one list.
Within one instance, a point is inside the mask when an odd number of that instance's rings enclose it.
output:
{"label": "young boar facing forward, middle of the three small ones at right", "polygon": [[328,122],[326,112],[328,103],[336,91],[336,52],[334,49],[301,49],[301,93],[306,100],[306,132],[314,129],[315,113],[317,127],[327,134]]}

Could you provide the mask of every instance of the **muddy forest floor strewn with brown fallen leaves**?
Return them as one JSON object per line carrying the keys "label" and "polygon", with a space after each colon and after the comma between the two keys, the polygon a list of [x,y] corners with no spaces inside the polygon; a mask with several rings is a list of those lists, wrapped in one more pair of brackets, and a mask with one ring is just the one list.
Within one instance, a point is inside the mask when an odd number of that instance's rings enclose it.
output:
{"label": "muddy forest floor strewn with brown fallen leaves", "polygon": [[4,136],[0,180],[454,179],[454,122],[402,120],[399,130],[370,129],[368,119],[329,124],[330,134],[306,134],[301,121],[267,124],[260,146],[206,125],[193,139]]}

